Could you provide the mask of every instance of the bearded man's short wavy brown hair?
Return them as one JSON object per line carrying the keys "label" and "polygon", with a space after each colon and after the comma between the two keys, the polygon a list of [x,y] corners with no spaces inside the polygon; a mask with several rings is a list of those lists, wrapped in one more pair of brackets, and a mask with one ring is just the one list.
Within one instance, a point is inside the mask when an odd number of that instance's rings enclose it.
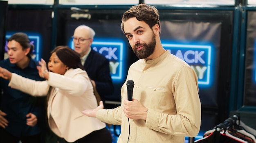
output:
{"label": "bearded man's short wavy brown hair", "polygon": [[[139,21],[144,21],[150,28],[159,25],[161,31],[161,25],[159,20],[159,13],[155,6],[149,6],[147,4],[139,4],[132,6],[128,11],[126,11],[122,17],[121,29],[124,32],[124,22],[128,19],[136,17]],[[160,32],[159,32],[160,35]]]}

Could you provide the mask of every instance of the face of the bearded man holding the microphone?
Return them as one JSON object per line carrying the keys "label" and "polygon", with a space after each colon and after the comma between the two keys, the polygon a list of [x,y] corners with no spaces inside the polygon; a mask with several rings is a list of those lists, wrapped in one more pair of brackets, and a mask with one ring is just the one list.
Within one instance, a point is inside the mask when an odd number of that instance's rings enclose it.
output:
{"label": "face of the bearded man holding the microphone", "polygon": [[156,39],[153,30],[148,24],[132,17],[124,23],[124,31],[133,52],[138,58],[146,59],[153,54]]}

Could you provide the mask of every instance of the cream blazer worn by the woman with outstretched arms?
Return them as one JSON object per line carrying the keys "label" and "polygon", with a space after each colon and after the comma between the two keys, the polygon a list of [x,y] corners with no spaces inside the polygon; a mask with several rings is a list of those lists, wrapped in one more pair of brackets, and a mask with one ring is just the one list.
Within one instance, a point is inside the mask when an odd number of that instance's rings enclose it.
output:
{"label": "cream blazer worn by the woman with outstretched arms", "polygon": [[106,127],[99,119],[81,113],[97,107],[92,84],[82,69],[69,69],[64,76],[49,72],[49,79],[45,81],[12,73],[9,86],[33,96],[47,95],[52,86],[47,106],[48,123],[55,134],[68,142]]}

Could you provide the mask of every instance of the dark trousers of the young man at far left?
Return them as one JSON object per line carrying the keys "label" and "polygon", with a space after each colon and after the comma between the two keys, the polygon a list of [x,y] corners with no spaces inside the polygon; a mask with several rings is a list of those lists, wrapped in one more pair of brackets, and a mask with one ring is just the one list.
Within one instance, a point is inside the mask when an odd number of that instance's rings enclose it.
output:
{"label": "dark trousers of the young man at far left", "polygon": [[21,141],[22,143],[40,143],[41,134],[27,137],[16,137],[4,130],[4,128],[0,127],[0,143],[18,143],[19,141]]}

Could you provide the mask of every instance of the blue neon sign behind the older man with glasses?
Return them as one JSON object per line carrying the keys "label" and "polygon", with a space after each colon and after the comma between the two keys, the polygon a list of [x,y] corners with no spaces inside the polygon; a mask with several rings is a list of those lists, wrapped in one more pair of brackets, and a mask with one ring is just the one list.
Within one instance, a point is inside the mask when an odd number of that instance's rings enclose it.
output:
{"label": "blue neon sign behind the older man with glasses", "polygon": [[[74,50],[74,42],[69,39],[68,45]],[[104,55],[110,61],[110,74],[114,83],[123,82],[126,71],[125,42],[116,38],[94,38],[92,50]]]}

